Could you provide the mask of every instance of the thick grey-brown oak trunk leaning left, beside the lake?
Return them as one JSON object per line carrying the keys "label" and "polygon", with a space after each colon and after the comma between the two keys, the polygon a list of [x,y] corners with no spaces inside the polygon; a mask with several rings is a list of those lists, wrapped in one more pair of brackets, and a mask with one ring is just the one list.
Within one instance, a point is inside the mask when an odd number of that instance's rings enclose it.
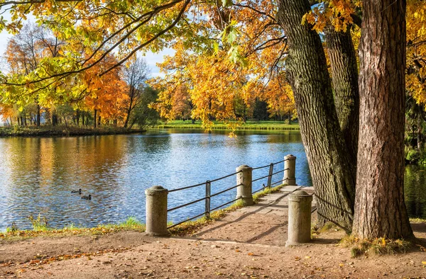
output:
{"label": "thick grey-brown oak trunk leaning left, beside the lake", "polygon": [[286,75],[295,94],[300,132],[318,202],[320,224],[351,229],[354,214],[355,162],[351,161],[334,106],[332,84],[320,36],[302,16],[307,0],[278,1],[278,21],[288,38]]}

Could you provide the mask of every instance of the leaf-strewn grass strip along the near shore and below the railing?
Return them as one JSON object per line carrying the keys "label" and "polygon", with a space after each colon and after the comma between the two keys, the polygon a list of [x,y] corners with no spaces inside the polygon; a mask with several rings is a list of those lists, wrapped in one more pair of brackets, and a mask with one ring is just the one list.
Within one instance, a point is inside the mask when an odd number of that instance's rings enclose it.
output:
{"label": "leaf-strewn grass strip along the near shore and below the railing", "polygon": [[[253,195],[254,203],[258,203],[258,199],[269,193],[274,193],[280,190],[284,185],[276,186],[273,188],[265,188],[265,190],[258,192]],[[187,235],[192,234],[206,224],[214,222],[214,220],[219,220],[224,217],[227,212],[235,211],[241,207],[244,207],[244,203],[241,200],[238,200],[233,205],[226,207],[221,210],[215,210],[211,213],[210,219],[207,220],[205,217],[201,217],[195,221],[188,221],[182,223],[176,227],[170,229],[170,233],[173,235]],[[44,217],[38,215],[38,217],[29,218],[33,229],[21,230],[15,226],[8,227],[6,232],[0,232],[0,240],[22,240],[28,239],[31,237],[67,237],[67,236],[83,236],[83,235],[103,235],[111,234],[114,232],[121,231],[136,231],[136,232],[145,232],[145,224],[139,222],[134,217],[127,218],[124,222],[119,224],[102,224],[93,228],[85,227],[75,227],[73,225],[66,226],[62,229],[53,229],[48,227],[48,220]],[[169,224],[170,225],[170,224]]]}

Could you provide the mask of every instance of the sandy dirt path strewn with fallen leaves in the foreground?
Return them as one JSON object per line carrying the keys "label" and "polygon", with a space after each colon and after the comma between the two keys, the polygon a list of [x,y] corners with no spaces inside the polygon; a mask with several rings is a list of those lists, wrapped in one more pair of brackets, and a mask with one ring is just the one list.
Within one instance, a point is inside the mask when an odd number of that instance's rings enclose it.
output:
{"label": "sandy dirt path strewn with fallen leaves in the foreground", "polygon": [[[342,231],[288,248],[285,188],[190,237],[138,232],[0,242],[0,278],[426,278],[426,253],[351,258]],[[307,189],[310,190],[310,189]],[[426,224],[413,224],[426,246]]]}

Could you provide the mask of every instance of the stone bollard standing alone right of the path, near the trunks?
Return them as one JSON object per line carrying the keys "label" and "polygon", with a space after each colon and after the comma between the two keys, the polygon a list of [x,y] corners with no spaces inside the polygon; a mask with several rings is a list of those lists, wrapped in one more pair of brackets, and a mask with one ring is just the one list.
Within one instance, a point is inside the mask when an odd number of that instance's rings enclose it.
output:
{"label": "stone bollard standing alone right of the path, near the trunks", "polygon": [[311,240],[311,206],[312,195],[303,190],[288,195],[288,239],[285,246]]}

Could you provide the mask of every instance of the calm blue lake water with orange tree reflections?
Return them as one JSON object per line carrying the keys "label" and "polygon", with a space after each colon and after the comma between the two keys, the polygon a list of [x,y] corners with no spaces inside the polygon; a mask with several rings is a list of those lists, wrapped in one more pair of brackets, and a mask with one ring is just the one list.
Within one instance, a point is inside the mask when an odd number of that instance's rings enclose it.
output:
{"label": "calm blue lake water with orange tree reflections", "polygon": [[[97,137],[0,138],[0,230],[12,222],[31,228],[29,215],[40,214],[51,227],[94,227],[133,216],[145,222],[146,188],[169,190],[234,173],[237,166],[265,166],[297,156],[299,185],[310,186],[310,172],[298,132],[151,130],[144,135]],[[283,163],[275,166],[281,171]],[[268,168],[253,171],[253,179]],[[410,216],[426,217],[426,169],[408,166],[405,198]],[[283,173],[272,182],[280,181]],[[267,178],[253,183],[253,190]],[[235,186],[231,176],[212,183],[212,194]],[[82,189],[92,200],[82,200],[71,190]],[[170,193],[169,208],[204,197],[205,188]],[[212,198],[212,208],[234,200],[236,189]],[[204,212],[204,202],[171,212],[179,222]]]}

